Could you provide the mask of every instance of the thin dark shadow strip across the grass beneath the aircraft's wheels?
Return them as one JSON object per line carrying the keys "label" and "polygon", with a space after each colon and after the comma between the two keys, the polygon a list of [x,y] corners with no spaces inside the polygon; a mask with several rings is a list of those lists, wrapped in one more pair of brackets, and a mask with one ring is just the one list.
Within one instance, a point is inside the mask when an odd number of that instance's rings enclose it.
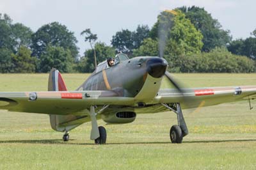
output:
{"label": "thin dark shadow strip across the grass beneath the aircraft's wheels", "polygon": [[[70,139],[74,141],[75,139]],[[210,140],[210,141],[184,141],[183,143],[228,143],[228,142],[250,142],[256,139],[228,139],[228,140]],[[72,144],[72,145],[95,145],[93,143],[70,143],[63,142],[61,139],[36,139],[36,140],[8,140],[1,143],[26,143],[26,144]],[[107,143],[107,145],[116,144],[172,144],[171,142],[134,142],[134,143]]]}

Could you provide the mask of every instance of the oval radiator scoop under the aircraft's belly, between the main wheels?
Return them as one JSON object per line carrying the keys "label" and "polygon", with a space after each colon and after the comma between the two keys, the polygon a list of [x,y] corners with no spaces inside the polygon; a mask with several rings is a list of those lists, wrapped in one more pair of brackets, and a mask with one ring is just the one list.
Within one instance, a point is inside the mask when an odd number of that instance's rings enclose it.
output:
{"label": "oval radiator scoop under the aircraft's belly, between the main wheels", "polygon": [[136,118],[136,112],[118,111],[102,114],[102,120],[106,123],[131,123]]}

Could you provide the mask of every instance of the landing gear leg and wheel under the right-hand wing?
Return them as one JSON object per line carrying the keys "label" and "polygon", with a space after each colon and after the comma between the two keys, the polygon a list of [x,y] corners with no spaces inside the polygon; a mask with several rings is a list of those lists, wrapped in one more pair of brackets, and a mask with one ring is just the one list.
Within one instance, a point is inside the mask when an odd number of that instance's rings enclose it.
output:
{"label": "landing gear leg and wheel under the right-hand wing", "polygon": [[179,103],[176,104],[162,104],[170,111],[173,111],[177,114],[178,125],[173,125],[170,129],[170,139],[172,143],[182,143],[182,139],[185,135],[188,135],[188,127],[184,120],[183,113]]}

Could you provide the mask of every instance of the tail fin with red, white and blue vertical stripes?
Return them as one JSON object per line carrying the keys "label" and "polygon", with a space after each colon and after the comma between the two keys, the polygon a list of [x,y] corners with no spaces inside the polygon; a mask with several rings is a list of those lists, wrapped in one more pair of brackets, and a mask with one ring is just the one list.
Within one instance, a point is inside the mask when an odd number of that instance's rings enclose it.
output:
{"label": "tail fin with red, white and blue vertical stripes", "polygon": [[52,68],[49,74],[48,91],[67,91],[65,82],[56,68]]}

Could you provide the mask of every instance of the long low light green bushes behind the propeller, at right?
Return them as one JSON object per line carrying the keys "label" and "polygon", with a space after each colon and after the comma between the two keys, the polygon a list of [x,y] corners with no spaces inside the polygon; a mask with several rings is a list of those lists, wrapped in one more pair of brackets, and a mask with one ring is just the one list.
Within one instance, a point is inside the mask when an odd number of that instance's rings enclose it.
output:
{"label": "long low light green bushes behind the propeller, at right", "polygon": [[177,72],[215,72],[215,73],[250,73],[255,72],[255,61],[246,56],[237,56],[223,48],[216,48],[211,52],[202,52],[190,56],[180,56],[173,63]]}

